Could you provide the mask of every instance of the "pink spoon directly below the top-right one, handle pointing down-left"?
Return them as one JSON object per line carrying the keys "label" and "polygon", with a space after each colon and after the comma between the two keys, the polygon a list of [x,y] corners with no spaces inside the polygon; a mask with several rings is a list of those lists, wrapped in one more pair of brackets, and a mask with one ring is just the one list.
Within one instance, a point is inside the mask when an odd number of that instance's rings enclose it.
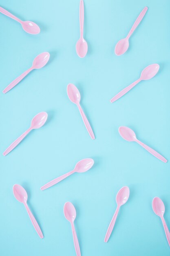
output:
{"label": "pink spoon directly below the top-right one, handle pointing down-left", "polygon": [[119,92],[112,99],[110,99],[110,102],[112,103],[114,101],[117,101],[117,99],[121,98],[124,94],[126,94],[128,91],[130,91],[140,81],[151,79],[152,77],[154,77],[157,74],[158,70],[159,70],[158,64],[151,64],[151,65],[147,66],[141,72],[141,77],[139,79],[137,79],[137,81],[135,81],[131,85],[129,85],[126,88],[124,88],[123,90],[121,90],[121,92]]}

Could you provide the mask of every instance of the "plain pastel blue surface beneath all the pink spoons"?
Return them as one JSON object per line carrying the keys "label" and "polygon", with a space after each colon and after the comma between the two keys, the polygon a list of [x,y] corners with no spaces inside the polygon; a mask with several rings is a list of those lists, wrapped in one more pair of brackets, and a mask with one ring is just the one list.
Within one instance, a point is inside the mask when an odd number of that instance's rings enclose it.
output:
{"label": "plain pastel blue surface beneath all the pink spoons", "polygon": [[[50,52],[51,58],[13,90],[0,94],[0,255],[75,256],[71,225],[63,214],[64,203],[71,201],[77,211],[75,229],[82,256],[168,256],[170,248],[161,219],[152,211],[152,199],[163,200],[170,228],[170,162],[165,164],[138,144],[125,141],[118,128],[132,128],[139,140],[170,160],[170,1],[85,0],[88,54],[83,59],[75,51],[79,0],[2,0],[1,6],[41,28],[39,35],[27,34],[18,22],[0,13],[1,91],[41,52]],[[117,41],[128,34],[145,6],[148,11],[130,38],[128,51],[116,56]],[[160,65],[153,79],[110,103],[152,63]],[[68,83],[81,93],[94,141],[68,99]],[[3,151],[41,111],[49,114],[46,124],[4,157]],[[87,173],[75,173],[40,191],[86,157],[95,160]],[[24,205],[13,196],[15,183],[28,193],[42,240]],[[104,243],[122,186],[129,186],[130,198]]]}

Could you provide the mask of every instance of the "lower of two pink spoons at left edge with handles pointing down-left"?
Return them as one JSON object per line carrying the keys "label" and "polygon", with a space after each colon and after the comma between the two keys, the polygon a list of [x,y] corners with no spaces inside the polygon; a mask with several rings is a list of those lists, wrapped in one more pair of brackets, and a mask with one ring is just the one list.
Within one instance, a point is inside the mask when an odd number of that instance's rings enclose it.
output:
{"label": "lower of two pink spoons at left edge with handles pointing down-left", "polygon": [[40,112],[37,114],[31,121],[31,127],[26,130],[18,139],[16,139],[3,153],[3,155],[7,155],[11,150],[13,150],[21,141],[24,139],[24,137],[31,132],[33,129],[38,129],[42,127],[47,119],[48,115],[46,112]]}

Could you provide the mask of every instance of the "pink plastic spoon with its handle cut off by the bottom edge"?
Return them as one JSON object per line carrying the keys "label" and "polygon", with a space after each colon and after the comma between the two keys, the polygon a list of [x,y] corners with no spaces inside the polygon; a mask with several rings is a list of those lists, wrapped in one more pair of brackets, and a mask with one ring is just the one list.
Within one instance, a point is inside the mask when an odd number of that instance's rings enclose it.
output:
{"label": "pink plastic spoon with its handle cut off by the bottom edge", "polygon": [[80,252],[80,248],[79,248],[79,241],[77,239],[77,234],[75,232],[75,227],[74,227],[76,211],[75,211],[74,205],[71,202],[66,202],[64,204],[64,216],[71,223],[71,229],[72,229],[72,233],[73,233],[73,241],[74,241],[76,255],[81,256],[81,252]]}

